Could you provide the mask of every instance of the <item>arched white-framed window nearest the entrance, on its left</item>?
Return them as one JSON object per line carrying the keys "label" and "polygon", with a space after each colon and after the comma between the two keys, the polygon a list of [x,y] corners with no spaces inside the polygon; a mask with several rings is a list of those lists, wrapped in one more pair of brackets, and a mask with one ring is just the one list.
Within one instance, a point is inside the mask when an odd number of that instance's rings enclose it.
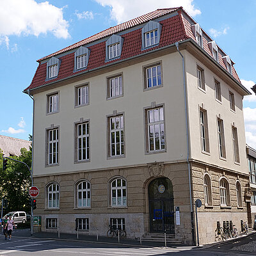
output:
{"label": "arched white-framed window nearest the entrance, on its left", "polygon": [[111,206],[126,205],[126,181],[122,178],[111,181]]}

